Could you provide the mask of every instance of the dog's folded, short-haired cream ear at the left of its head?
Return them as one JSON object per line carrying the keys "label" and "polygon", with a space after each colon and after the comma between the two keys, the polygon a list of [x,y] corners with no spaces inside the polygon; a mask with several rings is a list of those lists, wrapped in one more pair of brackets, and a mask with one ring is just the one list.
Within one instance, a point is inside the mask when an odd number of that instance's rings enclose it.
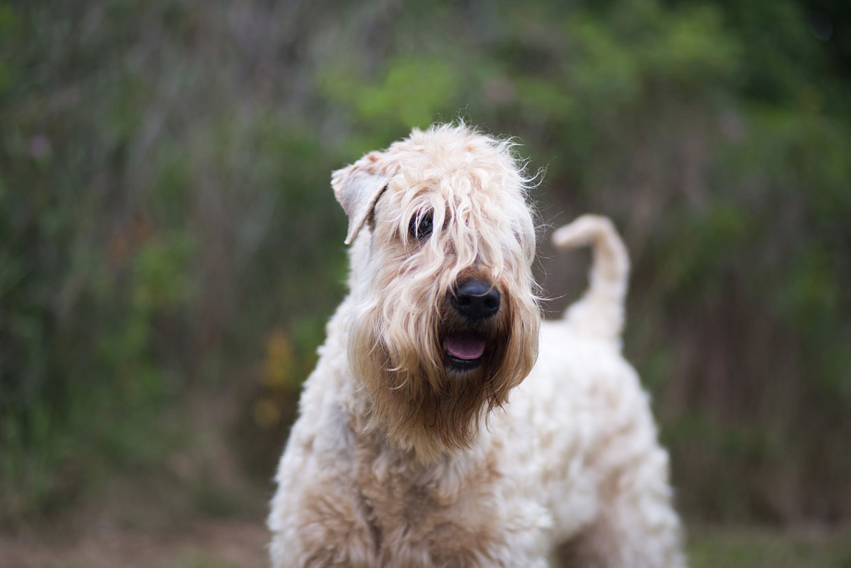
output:
{"label": "dog's folded, short-haired cream ear at the left of its head", "polygon": [[355,240],[392,177],[378,167],[379,157],[379,152],[369,152],[351,166],[338,169],[331,175],[334,197],[349,217],[346,244]]}

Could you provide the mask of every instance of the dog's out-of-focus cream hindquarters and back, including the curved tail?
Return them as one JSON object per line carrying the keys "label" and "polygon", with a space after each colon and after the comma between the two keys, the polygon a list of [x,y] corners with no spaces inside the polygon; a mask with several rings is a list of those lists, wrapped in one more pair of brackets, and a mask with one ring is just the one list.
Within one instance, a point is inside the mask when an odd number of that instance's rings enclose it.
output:
{"label": "dog's out-of-focus cream hindquarters and back, including the curved tail", "polygon": [[551,536],[572,545],[580,565],[684,565],[668,456],[648,395],[620,353],[625,246],[597,215],[558,229],[553,241],[563,249],[591,245],[590,287],[563,318],[541,324],[537,364],[494,415],[496,431],[528,440],[506,467],[517,464],[517,479],[549,496]]}

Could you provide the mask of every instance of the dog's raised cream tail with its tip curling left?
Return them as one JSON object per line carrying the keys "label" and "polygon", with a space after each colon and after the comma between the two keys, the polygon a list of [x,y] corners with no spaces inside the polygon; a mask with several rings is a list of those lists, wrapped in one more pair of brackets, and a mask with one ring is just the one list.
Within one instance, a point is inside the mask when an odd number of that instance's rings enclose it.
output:
{"label": "dog's raised cream tail with its tip curling left", "polygon": [[552,233],[558,249],[591,245],[593,264],[585,295],[568,307],[564,319],[596,336],[617,341],[624,326],[624,301],[630,258],[608,217],[582,215]]}

